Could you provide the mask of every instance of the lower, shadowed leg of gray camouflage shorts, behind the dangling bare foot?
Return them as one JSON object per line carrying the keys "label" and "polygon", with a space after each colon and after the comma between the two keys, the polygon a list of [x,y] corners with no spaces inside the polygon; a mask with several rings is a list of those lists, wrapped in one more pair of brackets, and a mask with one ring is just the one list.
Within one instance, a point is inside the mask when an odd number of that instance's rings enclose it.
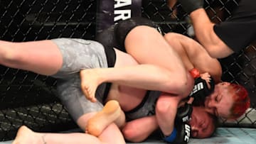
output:
{"label": "lower, shadowed leg of gray camouflage shorts, behind the dangling bare foot", "polygon": [[85,98],[80,89],[79,74],[73,75],[68,79],[58,79],[57,91],[62,104],[74,121],[78,121],[78,118],[86,113],[97,112],[103,108],[102,96],[105,91],[105,84],[98,87],[96,92],[97,102],[92,103]]}

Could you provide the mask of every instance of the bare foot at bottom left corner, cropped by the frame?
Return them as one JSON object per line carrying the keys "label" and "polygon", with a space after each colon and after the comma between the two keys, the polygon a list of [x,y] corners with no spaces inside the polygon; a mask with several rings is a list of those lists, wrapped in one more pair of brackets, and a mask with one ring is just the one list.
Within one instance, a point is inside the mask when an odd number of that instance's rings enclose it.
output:
{"label": "bare foot at bottom left corner, cropped by the frame", "polygon": [[43,144],[43,140],[38,133],[31,131],[26,126],[21,126],[18,128],[18,133],[14,142],[11,144],[28,144],[28,143],[38,143]]}

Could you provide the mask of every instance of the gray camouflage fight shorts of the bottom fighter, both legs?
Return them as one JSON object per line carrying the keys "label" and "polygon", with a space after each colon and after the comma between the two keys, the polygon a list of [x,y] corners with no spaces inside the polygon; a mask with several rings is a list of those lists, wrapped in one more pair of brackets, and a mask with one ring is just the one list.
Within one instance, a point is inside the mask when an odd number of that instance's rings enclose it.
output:
{"label": "gray camouflage fight shorts of the bottom fighter, both legs", "polygon": [[58,38],[53,39],[63,55],[63,66],[56,74],[57,91],[62,104],[75,121],[85,113],[100,111],[106,84],[97,88],[97,102],[85,98],[80,88],[80,70],[107,67],[105,50],[100,43],[92,40]]}

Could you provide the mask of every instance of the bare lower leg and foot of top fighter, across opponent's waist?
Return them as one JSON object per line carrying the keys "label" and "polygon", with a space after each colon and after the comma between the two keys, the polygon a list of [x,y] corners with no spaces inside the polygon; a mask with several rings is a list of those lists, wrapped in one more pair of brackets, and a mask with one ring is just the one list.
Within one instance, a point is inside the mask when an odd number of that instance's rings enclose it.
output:
{"label": "bare lower leg and foot of top fighter, across opponent's waist", "polygon": [[115,67],[88,69],[80,71],[82,91],[87,99],[95,97],[95,91],[103,82],[113,82],[128,87],[139,89],[158,90],[178,94],[178,84],[170,79],[173,78],[169,71],[155,65],[136,65],[130,67]]}

